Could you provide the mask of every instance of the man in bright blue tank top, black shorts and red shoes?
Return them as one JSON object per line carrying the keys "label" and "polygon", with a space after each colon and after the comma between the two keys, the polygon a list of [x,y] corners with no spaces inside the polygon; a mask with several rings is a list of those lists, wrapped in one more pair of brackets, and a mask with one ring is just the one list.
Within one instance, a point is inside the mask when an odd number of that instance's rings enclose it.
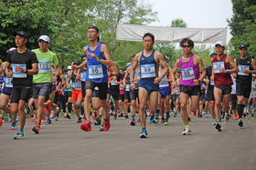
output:
{"label": "man in bright blue tank top, black shorts and red shoes", "polygon": [[104,131],[108,131],[111,127],[110,118],[108,115],[109,105],[106,102],[108,93],[108,68],[112,65],[112,58],[109,54],[107,45],[100,43],[100,33],[96,26],[88,28],[87,36],[90,41],[90,45],[83,48],[85,54],[87,54],[87,68],[86,72],[86,95],[84,97],[84,112],[87,120],[80,125],[80,129],[87,132],[91,131],[91,97],[95,86],[99,87],[100,91],[100,103],[103,107]]}

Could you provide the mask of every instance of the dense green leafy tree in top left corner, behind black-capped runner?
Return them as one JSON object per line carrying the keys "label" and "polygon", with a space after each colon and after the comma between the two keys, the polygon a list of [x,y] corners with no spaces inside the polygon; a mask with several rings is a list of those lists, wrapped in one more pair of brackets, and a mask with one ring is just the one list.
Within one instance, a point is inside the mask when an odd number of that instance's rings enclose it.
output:
{"label": "dense green leafy tree in top left corner, behind black-capped runner", "polygon": [[5,60],[6,51],[16,46],[13,33],[25,31],[28,35],[27,48],[38,47],[40,35],[56,35],[60,24],[56,1],[3,1],[0,3],[0,57]]}

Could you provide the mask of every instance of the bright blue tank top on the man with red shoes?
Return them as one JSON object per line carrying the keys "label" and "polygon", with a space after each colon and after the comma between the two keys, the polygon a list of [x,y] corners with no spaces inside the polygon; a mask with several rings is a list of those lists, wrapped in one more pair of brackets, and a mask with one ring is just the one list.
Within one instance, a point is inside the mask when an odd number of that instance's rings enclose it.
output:
{"label": "bright blue tank top on the man with red shoes", "polygon": [[101,60],[106,60],[105,56],[101,54],[101,45],[99,43],[94,51],[91,51],[91,45],[87,47],[87,72],[85,78],[95,83],[107,83],[109,78],[107,65],[103,65],[91,57],[91,54],[95,54]]}

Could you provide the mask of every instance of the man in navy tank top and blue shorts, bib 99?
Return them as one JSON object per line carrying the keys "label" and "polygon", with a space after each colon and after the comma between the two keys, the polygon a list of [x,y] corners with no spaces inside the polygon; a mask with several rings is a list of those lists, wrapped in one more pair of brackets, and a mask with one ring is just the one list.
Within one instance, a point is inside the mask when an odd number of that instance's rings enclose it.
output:
{"label": "man in navy tank top and blue shorts, bib 99", "polygon": [[[165,62],[165,57],[158,51],[155,51],[153,45],[155,44],[155,36],[151,33],[146,33],[143,36],[143,45],[144,50],[134,57],[133,67],[131,69],[131,90],[135,89],[134,85],[134,75],[136,72],[137,66],[140,64],[141,68],[141,79],[139,82],[139,115],[140,122],[142,125],[142,133],[140,138],[147,137],[147,131],[145,129],[145,108],[147,100],[150,102],[150,111],[155,113],[157,106],[157,98],[159,91],[159,83],[164,78],[168,72],[168,65]],[[159,63],[163,66],[163,73],[161,76],[158,76]]]}

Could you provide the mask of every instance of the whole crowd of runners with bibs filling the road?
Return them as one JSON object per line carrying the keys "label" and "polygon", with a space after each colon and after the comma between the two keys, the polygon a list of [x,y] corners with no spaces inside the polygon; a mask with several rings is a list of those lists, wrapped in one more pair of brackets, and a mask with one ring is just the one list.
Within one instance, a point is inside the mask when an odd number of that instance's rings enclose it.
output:
{"label": "whole crowd of runners with bibs filling the road", "polygon": [[147,137],[147,117],[149,124],[170,125],[171,115],[180,114],[185,125],[182,135],[189,135],[190,113],[210,114],[218,131],[221,120],[233,117],[242,127],[242,118],[249,112],[254,115],[256,65],[245,44],[233,60],[225,54],[224,43],[217,42],[216,53],[208,57],[211,65],[205,68],[201,57],[191,52],[194,42],[185,38],[179,44],[184,55],[171,68],[168,57],[154,49],[155,36],[146,33],[144,50],[130,57],[126,69],[119,69],[108,46],[100,42],[98,27],[89,27],[87,35],[90,45],[83,48],[85,55],[61,71],[48,35],[39,36],[38,48],[29,50],[27,33],[14,33],[16,48],[7,51],[0,67],[0,126],[5,116],[12,130],[18,122],[14,139],[24,138],[27,115],[35,122],[31,127],[35,134],[42,124],[58,121],[60,113],[68,119],[75,116],[85,132],[92,125],[108,131],[111,116],[130,118],[130,125],[142,126],[140,138]]}

